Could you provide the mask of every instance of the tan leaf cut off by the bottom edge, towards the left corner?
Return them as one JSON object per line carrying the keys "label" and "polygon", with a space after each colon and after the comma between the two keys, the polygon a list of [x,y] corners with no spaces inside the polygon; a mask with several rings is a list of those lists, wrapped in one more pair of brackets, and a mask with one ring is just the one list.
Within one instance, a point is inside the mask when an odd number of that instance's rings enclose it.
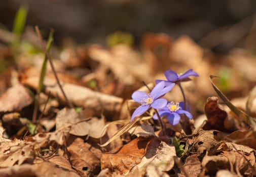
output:
{"label": "tan leaf cut off by the bottom edge, towards the left corner", "polygon": [[77,171],[71,168],[70,163],[63,156],[53,156],[49,159],[39,159],[34,161],[33,169],[37,171],[39,176],[74,176],[79,177]]}

